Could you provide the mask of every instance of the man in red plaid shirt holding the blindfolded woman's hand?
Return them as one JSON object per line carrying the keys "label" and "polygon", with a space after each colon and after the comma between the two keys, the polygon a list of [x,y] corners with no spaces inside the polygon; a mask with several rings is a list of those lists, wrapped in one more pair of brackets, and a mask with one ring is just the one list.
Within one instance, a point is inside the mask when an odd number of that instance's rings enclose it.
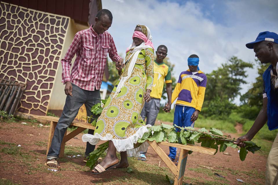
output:
{"label": "man in red plaid shirt holding the blindfolded woman's hand", "polygon": [[[94,25],[76,33],[61,61],[62,82],[65,84],[67,98],[47,154],[46,165],[50,169],[61,169],[56,161],[60,153],[61,142],[67,127],[76,117],[80,107],[85,104],[87,115],[91,116],[91,107],[100,102],[99,89],[107,53],[112,61],[116,61],[118,64],[123,62],[123,59],[117,54],[112,36],[107,32],[112,24],[112,19],[109,10],[100,10],[96,15]],[[76,59],[70,73],[71,61],[75,54]],[[94,130],[89,130],[88,133],[94,134]],[[85,157],[94,149],[95,145],[87,142]]]}

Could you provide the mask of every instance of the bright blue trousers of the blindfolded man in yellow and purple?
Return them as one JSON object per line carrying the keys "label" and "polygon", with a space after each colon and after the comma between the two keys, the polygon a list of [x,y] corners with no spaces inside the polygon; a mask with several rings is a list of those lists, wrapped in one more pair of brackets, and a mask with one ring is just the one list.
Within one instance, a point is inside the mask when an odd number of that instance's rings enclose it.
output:
{"label": "bright blue trousers of the blindfolded man in yellow and purple", "polygon": [[[195,112],[195,108],[190,106],[182,106],[182,105],[176,105],[175,107],[175,113],[174,113],[174,124],[180,127],[187,127],[191,126],[194,127],[194,123],[191,121],[191,116]],[[179,132],[179,129],[176,130]],[[169,157],[175,159],[177,154],[176,147],[169,147],[170,153]]]}

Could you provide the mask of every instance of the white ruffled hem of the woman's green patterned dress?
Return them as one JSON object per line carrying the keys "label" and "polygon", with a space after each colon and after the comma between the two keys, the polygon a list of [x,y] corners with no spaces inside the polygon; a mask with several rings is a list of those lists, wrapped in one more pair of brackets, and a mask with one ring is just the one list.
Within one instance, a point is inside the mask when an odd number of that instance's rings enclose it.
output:
{"label": "white ruffled hem of the woman's green patterned dress", "polygon": [[149,132],[147,129],[148,127],[151,127],[151,125],[142,126],[139,128],[139,130],[130,136],[127,139],[113,139],[113,136],[111,134],[106,134],[105,137],[100,136],[98,133],[92,134],[83,134],[82,141],[83,142],[89,142],[91,145],[96,145],[99,140],[103,141],[112,141],[114,146],[116,147],[117,152],[124,152],[127,151],[127,156],[129,157],[139,157],[140,151],[146,152],[149,144],[147,142],[142,143],[137,148],[133,148],[133,143],[136,144],[139,138],[143,137],[143,134],[145,132]]}

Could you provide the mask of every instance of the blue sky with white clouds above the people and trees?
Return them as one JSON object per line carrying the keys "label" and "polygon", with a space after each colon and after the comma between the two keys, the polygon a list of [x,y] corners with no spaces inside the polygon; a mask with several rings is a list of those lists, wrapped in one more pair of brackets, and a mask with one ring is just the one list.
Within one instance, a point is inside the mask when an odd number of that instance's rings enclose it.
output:
{"label": "blue sky with white clouds above the people and trees", "polygon": [[[199,67],[204,73],[217,69],[233,55],[254,61],[255,53],[245,44],[255,41],[259,32],[278,33],[277,0],[102,0],[102,6],[113,14],[108,31],[118,53],[124,54],[131,44],[136,24],[146,25],[154,47],[168,47],[175,77],[188,69],[191,54],[200,57]],[[248,75],[250,84],[242,93],[255,81],[257,71],[248,70]]]}

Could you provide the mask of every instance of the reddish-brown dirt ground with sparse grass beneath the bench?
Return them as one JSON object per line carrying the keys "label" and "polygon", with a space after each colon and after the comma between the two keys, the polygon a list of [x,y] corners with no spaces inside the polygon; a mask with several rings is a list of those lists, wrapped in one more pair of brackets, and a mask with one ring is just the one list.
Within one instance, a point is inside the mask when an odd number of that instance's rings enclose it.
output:
{"label": "reddish-brown dirt ground with sparse grass beneath the bench", "polygon": [[[79,152],[82,157],[68,158],[69,153],[65,152],[64,158],[61,158],[60,165],[62,170],[52,172],[47,170],[44,166],[45,153],[47,147],[47,137],[49,128],[38,127],[39,123],[28,122],[26,125],[18,123],[0,123],[0,178],[2,180],[10,180],[13,183],[19,184],[101,184],[107,175],[109,177],[125,176],[125,178],[134,175],[127,173],[124,170],[109,170],[100,175],[92,175],[89,173],[85,163],[83,162],[83,153]],[[237,125],[237,130],[240,131],[240,126]],[[232,138],[237,138],[237,134],[229,134]],[[85,148],[85,143],[81,140],[81,134],[67,142],[67,147],[81,147],[82,151]],[[10,143],[10,144],[9,144]],[[4,147],[12,146],[11,143],[20,146],[22,155],[6,154]],[[15,147],[15,145],[13,145]],[[161,145],[162,149],[169,154],[169,148]],[[209,180],[220,179],[218,184],[264,184],[264,173],[267,154],[248,153],[246,160],[242,162],[239,159],[237,149],[227,148],[226,154],[217,152],[216,155],[210,156],[193,152],[189,155],[186,163],[184,182],[190,184],[198,179],[200,184],[209,185]],[[75,154],[75,153],[74,153]],[[78,154],[78,153],[76,153]],[[158,155],[149,147],[147,152],[147,161],[150,165],[166,167],[164,162]],[[69,162],[63,162],[69,160]],[[137,162],[137,160],[134,160]],[[142,161],[138,161],[142,162]],[[132,168],[132,166],[131,166]],[[80,170],[79,170],[80,169]],[[84,170],[85,169],[85,170]],[[157,172],[159,174],[159,172]],[[214,173],[218,173],[226,177],[224,181],[222,178],[216,177]],[[171,172],[169,171],[169,174]],[[63,178],[62,178],[63,177]],[[65,178],[66,177],[66,178]],[[68,177],[68,178],[67,178]],[[135,177],[136,178],[136,177]],[[241,179],[245,183],[238,182],[236,179]],[[208,180],[208,181],[206,181]],[[1,182],[1,180],[0,180]],[[1,183],[0,183],[1,184]],[[116,184],[129,184],[128,182]],[[130,183],[133,184],[133,183]],[[148,184],[148,183],[147,183]],[[149,183],[153,184],[153,183]],[[170,184],[170,183],[169,183]],[[194,184],[194,183],[193,183]],[[197,183],[199,184],[199,183]],[[211,183],[213,184],[213,183]]]}

